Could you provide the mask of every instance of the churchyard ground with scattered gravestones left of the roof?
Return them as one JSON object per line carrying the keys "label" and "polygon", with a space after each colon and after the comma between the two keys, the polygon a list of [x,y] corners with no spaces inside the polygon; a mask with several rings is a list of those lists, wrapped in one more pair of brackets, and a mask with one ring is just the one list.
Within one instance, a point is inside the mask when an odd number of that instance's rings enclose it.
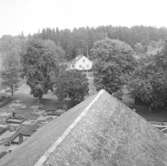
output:
{"label": "churchyard ground with scattered gravestones left of the roof", "polygon": [[26,91],[18,91],[9,104],[0,108],[0,157],[63,112],[57,109],[55,96],[48,94],[38,103]]}

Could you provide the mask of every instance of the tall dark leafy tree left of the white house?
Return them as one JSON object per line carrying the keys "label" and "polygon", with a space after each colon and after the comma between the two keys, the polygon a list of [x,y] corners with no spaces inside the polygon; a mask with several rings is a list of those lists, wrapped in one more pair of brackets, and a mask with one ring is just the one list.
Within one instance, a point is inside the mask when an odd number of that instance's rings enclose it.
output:
{"label": "tall dark leafy tree left of the white house", "polygon": [[34,97],[41,99],[49,89],[52,90],[52,79],[58,75],[60,50],[61,48],[49,40],[28,41],[22,63],[24,76]]}

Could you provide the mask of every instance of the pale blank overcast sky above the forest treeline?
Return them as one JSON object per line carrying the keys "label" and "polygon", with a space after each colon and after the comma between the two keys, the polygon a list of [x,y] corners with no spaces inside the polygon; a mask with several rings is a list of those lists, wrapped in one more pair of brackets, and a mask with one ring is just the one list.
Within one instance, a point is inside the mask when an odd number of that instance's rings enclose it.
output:
{"label": "pale blank overcast sky above the forest treeline", "polygon": [[0,36],[99,25],[167,27],[167,0],[0,0]]}

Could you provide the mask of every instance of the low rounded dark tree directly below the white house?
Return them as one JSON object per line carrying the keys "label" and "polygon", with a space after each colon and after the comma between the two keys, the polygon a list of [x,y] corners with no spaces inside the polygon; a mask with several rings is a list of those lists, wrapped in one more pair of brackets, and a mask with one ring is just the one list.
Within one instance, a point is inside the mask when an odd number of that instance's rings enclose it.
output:
{"label": "low rounded dark tree directly below the white house", "polygon": [[86,75],[74,70],[62,71],[55,82],[55,87],[59,101],[65,103],[68,100],[68,108],[83,101],[89,91]]}

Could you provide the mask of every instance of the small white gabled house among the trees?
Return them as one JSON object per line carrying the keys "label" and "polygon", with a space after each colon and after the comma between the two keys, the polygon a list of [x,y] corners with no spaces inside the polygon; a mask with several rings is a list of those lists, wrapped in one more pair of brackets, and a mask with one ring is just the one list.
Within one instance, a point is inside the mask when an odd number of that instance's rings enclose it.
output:
{"label": "small white gabled house among the trees", "polygon": [[84,55],[79,55],[71,62],[69,69],[88,71],[92,69],[92,66],[93,62],[89,58]]}

